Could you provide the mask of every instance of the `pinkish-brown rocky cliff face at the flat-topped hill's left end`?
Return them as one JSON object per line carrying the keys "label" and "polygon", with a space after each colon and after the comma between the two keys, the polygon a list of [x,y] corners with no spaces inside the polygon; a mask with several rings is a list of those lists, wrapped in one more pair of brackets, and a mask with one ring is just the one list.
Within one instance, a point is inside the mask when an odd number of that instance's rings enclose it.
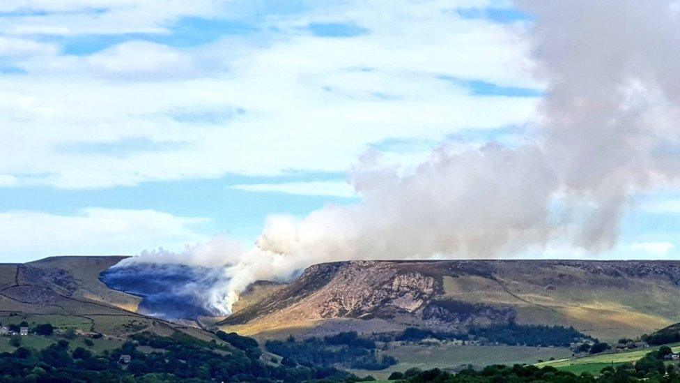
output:
{"label": "pinkish-brown rocky cliff face at the flat-topped hill's left end", "polygon": [[[370,269],[370,273],[366,270]],[[242,324],[278,310],[304,306],[304,319],[390,317],[414,313],[440,293],[441,281],[384,262],[337,262],[309,267],[300,278],[226,323]]]}

